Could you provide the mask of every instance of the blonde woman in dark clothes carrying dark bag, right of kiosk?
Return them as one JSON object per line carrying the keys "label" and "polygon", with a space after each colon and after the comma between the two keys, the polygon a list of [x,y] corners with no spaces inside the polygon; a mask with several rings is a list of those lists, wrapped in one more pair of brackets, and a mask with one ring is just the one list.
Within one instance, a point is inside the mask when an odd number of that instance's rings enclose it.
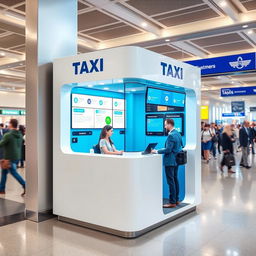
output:
{"label": "blonde woman in dark clothes carrying dark bag, right of kiosk", "polygon": [[[223,149],[223,158],[221,161],[221,166],[220,166],[220,170],[223,172],[223,167],[226,165],[225,163],[225,158],[226,158],[226,154],[234,154],[234,149],[233,149],[233,143],[234,143],[234,139],[232,138],[232,129],[231,126],[229,124],[224,126],[223,129],[223,133],[222,133],[222,138],[221,138],[221,145],[222,145],[222,149]],[[228,172],[229,173],[235,173],[232,170],[232,166],[227,166],[228,167]]]}

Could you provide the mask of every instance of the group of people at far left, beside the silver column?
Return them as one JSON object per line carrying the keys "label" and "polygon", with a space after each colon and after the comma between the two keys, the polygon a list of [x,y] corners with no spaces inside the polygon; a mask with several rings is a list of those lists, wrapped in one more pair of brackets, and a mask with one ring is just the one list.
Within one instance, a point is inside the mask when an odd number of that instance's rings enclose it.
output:
{"label": "group of people at far left, beside the silver column", "polygon": [[24,167],[25,161],[25,127],[18,125],[17,119],[11,119],[8,126],[0,124],[0,163],[1,181],[0,194],[6,192],[7,175],[10,173],[22,186],[26,193],[26,183],[17,172],[18,168]]}

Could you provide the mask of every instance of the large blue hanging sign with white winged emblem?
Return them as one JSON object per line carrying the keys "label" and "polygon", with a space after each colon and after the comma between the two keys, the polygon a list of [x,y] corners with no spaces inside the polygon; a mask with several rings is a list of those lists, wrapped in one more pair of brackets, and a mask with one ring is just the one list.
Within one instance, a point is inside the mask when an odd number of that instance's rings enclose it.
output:
{"label": "large blue hanging sign with white winged emblem", "polygon": [[199,67],[202,76],[242,72],[256,69],[256,53],[192,60],[186,63]]}

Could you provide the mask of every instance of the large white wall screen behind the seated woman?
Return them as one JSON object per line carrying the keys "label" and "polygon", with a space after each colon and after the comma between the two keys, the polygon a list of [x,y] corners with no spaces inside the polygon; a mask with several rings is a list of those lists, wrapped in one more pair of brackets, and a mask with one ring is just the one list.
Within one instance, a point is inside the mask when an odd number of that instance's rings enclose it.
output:
{"label": "large white wall screen behind the seated woman", "polygon": [[72,94],[72,129],[124,128],[124,99]]}

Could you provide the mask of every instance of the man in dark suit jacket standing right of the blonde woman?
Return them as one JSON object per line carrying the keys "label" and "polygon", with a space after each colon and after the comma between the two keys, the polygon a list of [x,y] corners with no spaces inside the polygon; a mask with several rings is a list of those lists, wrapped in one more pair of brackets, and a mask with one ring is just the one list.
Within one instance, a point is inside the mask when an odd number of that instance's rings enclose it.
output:
{"label": "man in dark suit jacket standing right of the blonde woman", "polygon": [[251,168],[248,165],[248,155],[249,155],[249,122],[244,121],[243,127],[239,130],[239,142],[242,148],[242,158],[240,162],[240,166],[245,167],[246,169]]}

